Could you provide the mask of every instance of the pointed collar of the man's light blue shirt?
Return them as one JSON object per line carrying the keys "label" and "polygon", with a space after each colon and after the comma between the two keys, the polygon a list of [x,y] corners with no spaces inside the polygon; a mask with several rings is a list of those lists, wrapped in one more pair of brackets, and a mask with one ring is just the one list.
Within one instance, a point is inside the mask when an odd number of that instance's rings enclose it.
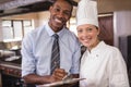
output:
{"label": "pointed collar of the man's light blue shirt", "polygon": [[[45,27],[46,27],[46,30],[49,36],[52,36],[55,34],[55,32],[51,29],[51,27],[49,26],[48,23],[46,23]],[[66,27],[63,27],[60,32],[57,33],[59,35],[59,37],[61,37],[64,34],[64,29],[66,29]]]}

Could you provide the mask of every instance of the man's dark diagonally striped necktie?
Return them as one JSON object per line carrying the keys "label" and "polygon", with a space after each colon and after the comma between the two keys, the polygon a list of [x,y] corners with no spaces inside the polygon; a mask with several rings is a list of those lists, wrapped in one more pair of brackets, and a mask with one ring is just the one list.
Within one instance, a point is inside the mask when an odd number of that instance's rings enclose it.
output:
{"label": "man's dark diagonally striped necktie", "polygon": [[53,35],[55,40],[52,45],[52,51],[51,51],[51,67],[50,73],[52,74],[55,69],[60,67],[60,51],[59,51],[59,36],[57,34]]}

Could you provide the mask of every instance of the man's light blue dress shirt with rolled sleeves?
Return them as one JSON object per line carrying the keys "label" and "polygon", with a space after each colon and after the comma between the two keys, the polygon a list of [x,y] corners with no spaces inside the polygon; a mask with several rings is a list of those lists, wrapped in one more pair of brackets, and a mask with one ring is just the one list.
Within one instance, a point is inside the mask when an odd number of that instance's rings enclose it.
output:
{"label": "man's light blue dress shirt with rolled sleeves", "polygon": [[[53,30],[48,23],[28,33],[22,41],[22,76],[50,75]],[[60,69],[79,74],[81,47],[73,33],[63,27],[59,33]]]}

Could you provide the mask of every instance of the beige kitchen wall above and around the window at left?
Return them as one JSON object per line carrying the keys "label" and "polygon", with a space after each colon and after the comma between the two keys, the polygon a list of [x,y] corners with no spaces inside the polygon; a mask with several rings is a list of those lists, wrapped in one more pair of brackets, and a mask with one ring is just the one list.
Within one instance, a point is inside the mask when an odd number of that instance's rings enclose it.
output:
{"label": "beige kitchen wall above and around the window at left", "polygon": [[48,16],[49,12],[45,11],[0,17],[0,41],[3,40],[2,20],[32,20],[33,27],[36,28],[43,25],[48,20]]}

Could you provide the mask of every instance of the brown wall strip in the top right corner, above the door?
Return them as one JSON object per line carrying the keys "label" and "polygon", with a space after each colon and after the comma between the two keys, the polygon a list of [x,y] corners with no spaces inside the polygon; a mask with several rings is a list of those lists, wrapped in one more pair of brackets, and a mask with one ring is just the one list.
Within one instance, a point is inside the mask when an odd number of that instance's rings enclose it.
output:
{"label": "brown wall strip in the top right corner, above the door", "polygon": [[131,0],[96,0],[98,13],[131,10]]}

